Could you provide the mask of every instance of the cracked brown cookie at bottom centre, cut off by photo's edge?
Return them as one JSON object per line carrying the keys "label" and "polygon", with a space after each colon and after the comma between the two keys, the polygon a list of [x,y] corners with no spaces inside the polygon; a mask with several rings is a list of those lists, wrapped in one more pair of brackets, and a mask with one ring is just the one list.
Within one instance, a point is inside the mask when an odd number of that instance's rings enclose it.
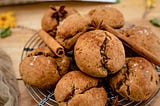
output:
{"label": "cracked brown cookie at bottom centre, cut off by photo's edge", "polygon": [[59,106],[105,106],[107,103],[107,93],[99,85],[99,79],[77,70],[58,81],[54,94]]}

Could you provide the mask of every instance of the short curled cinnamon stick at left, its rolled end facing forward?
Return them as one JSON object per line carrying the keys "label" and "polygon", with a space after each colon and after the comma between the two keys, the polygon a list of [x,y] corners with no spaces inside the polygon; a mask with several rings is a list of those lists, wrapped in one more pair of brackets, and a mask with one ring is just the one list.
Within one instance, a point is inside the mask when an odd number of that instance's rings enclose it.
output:
{"label": "short curled cinnamon stick at left, its rolled end facing forward", "polygon": [[58,57],[65,54],[64,48],[47,32],[41,29],[38,35]]}

